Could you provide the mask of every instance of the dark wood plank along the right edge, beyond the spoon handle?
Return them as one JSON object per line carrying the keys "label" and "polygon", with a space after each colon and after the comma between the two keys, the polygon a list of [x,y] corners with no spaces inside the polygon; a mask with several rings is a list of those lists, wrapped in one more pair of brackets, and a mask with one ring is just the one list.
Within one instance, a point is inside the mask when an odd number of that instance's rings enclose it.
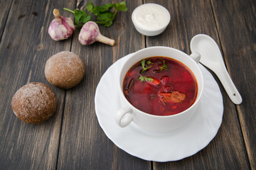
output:
{"label": "dark wood plank along the right edge, beyond the spoon handle", "polygon": [[256,169],[256,1],[212,4],[225,62],[243,99],[237,106],[238,117],[250,166]]}

